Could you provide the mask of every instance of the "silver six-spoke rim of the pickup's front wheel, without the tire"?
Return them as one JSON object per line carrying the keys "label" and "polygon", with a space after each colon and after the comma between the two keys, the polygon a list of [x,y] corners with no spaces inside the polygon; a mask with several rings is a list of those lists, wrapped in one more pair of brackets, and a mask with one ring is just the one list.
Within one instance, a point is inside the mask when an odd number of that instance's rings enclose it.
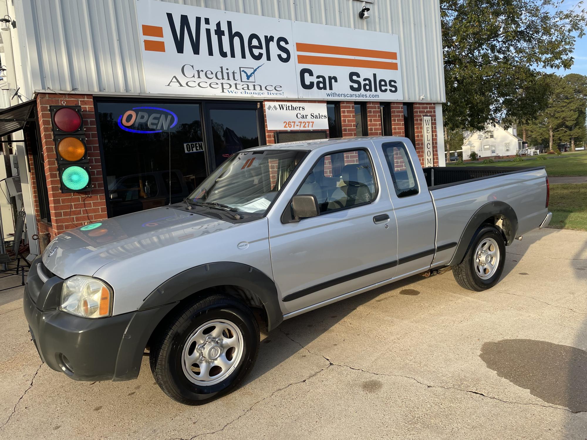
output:
{"label": "silver six-spoke rim of the pickup's front wheel, without the tire", "polygon": [[241,330],[231,321],[208,321],[188,337],[182,356],[182,368],[190,381],[214,385],[235,370],[244,347]]}

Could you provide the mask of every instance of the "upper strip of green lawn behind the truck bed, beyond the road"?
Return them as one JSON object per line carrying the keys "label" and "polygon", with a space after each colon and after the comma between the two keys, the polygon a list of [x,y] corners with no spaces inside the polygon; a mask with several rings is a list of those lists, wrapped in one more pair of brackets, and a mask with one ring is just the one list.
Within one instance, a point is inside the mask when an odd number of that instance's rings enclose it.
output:
{"label": "upper strip of green lawn behind the truck bed, beyond the road", "polygon": [[495,161],[492,164],[469,163],[455,165],[447,163],[448,167],[546,167],[546,172],[551,176],[583,176],[587,175],[587,153],[563,153],[560,156],[555,154],[542,154],[546,160],[529,159],[523,162]]}

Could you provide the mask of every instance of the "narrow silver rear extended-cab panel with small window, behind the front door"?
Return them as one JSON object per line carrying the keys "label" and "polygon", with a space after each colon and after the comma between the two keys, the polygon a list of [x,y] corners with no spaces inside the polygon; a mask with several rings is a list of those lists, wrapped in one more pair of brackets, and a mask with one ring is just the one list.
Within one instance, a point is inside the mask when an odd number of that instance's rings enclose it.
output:
{"label": "narrow silver rear extended-cab panel with small window, behind the front door", "polygon": [[424,272],[434,258],[436,215],[418,155],[410,143],[399,141],[379,141],[376,148],[397,221],[396,277]]}

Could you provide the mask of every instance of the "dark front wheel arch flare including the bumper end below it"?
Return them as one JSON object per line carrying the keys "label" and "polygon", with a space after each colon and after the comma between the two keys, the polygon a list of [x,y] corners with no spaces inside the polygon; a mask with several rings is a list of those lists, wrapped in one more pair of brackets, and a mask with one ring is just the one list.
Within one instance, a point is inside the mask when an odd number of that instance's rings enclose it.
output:
{"label": "dark front wheel arch flare including the bumper end below it", "polygon": [[204,289],[237,286],[254,293],[265,307],[268,330],[284,320],[275,282],[261,270],[242,263],[216,262],[195,266],[172,276],[143,300],[120,341],[113,380],[139,375],[144,347],[158,324],[177,304]]}

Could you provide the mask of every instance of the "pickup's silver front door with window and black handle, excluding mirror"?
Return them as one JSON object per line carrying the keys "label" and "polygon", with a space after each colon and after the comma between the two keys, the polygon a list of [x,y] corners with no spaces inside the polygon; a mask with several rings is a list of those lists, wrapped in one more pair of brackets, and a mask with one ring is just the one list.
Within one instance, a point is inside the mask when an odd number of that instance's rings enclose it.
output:
{"label": "pickup's silver front door with window and black handle, excluding mirror", "polygon": [[[359,143],[357,143],[359,144]],[[354,292],[396,272],[397,228],[370,141],[312,151],[269,213],[275,283],[288,312]],[[291,198],[313,194],[319,215],[284,223]]]}

